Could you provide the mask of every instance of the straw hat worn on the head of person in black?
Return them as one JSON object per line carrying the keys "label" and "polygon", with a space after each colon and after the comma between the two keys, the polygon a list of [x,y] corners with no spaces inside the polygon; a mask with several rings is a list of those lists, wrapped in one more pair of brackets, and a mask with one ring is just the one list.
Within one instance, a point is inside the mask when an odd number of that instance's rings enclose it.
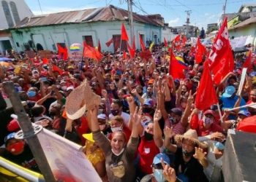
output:
{"label": "straw hat worn on the head of person in black", "polygon": [[175,136],[175,141],[179,145],[181,145],[183,140],[192,141],[192,143],[194,143],[195,145],[197,145],[197,147],[200,147],[201,149],[206,149],[207,148],[206,143],[201,143],[200,141],[198,141],[196,130],[189,129],[183,135],[176,135]]}

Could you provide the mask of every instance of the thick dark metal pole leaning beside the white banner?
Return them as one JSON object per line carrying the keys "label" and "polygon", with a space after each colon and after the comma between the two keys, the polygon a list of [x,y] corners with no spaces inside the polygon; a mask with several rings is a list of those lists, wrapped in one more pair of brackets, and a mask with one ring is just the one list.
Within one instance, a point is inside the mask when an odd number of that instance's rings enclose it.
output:
{"label": "thick dark metal pole leaning beside the white banner", "polygon": [[45,153],[42,150],[42,146],[39,143],[37,135],[34,134],[34,128],[31,124],[29,116],[27,116],[25,109],[23,108],[22,103],[20,102],[20,98],[15,92],[13,82],[4,82],[4,92],[7,93],[10,101],[12,103],[12,108],[15,111],[15,114],[18,116],[18,123],[20,124],[20,128],[23,131],[24,138],[29,143],[29,147],[36,159],[37,165],[44,175],[45,181],[55,182],[55,178],[53,176],[52,171],[50,170],[50,165],[48,164],[48,160],[45,157]]}

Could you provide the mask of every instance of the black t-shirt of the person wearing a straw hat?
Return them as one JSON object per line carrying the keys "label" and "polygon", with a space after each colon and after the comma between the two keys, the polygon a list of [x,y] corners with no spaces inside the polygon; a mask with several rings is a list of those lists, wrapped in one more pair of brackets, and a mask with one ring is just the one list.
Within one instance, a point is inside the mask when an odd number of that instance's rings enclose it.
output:
{"label": "black t-shirt of the person wearing a straw hat", "polygon": [[176,151],[174,163],[175,163],[176,174],[186,175],[187,178],[189,179],[189,182],[208,181],[208,179],[206,178],[206,175],[203,173],[203,166],[200,165],[197,159],[192,157],[189,160],[189,162],[184,162],[181,147],[179,147]]}

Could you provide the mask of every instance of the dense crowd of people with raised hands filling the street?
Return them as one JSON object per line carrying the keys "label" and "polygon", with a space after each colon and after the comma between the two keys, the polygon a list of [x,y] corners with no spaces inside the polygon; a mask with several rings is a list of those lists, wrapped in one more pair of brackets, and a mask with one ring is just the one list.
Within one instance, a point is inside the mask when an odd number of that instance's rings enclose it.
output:
{"label": "dense crowd of people with raised hands filling the street", "polygon": [[[215,86],[221,122],[217,105],[205,111],[195,108],[203,63],[195,64],[191,46],[174,52],[187,63],[185,79],[169,74],[170,55],[163,47],[154,45],[148,60],[139,52],[135,58],[105,52],[99,62],[64,61],[53,54],[44,64],[39,56],[31,59],[16,53],[10,66],[0,67],[1,95],[7,98],[2,82],[12,81],[31,122],[83,146],[102,181],[223,181],[227,130],[256,114],[253,107],[228,108],[256,102],[256,63],[246,75],[241,95],[236,91],[245,54],[234,55],[234,71]],[[72,119],[66,98],[78,109],[84,106],[88,100],[84,103],[79,95],[83,84],[100,97],[99,104]],[[9,133],[1,155],[40,172],[26,141],[15,138],[20,130],[17,120],[11,119],[1,130]],[[58,180],[65,181],[61,175]]]}

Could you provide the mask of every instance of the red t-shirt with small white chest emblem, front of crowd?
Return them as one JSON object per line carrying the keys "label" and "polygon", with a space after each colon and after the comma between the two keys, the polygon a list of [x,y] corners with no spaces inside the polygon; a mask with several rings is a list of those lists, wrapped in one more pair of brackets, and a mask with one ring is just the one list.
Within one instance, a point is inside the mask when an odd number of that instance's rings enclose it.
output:
{"label": "red t-shirt with small white chest emblem, front of crowd", "polygon": [[140,154],[140,170],[143,173],[151,174],[152,163],[154,157],[159,154],[159,148],[154,143],[154,140],[146,141],[145,137],[141,138],[140,146],[138,147],[138,153]]}

